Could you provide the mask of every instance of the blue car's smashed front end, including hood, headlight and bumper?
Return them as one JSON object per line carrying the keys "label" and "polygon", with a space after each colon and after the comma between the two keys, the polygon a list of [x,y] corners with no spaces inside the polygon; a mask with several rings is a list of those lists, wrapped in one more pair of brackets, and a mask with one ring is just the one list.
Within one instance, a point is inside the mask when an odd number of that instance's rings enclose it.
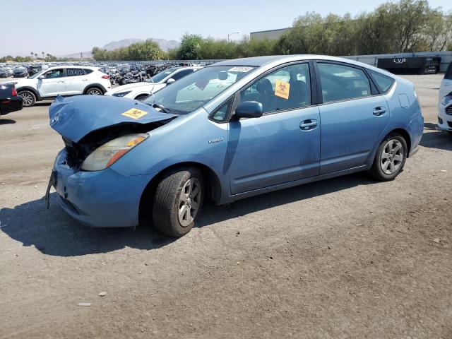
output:
{"label": "blue car's smashed front end, including hood, headlight and bumper", "polygon": [[59,206],[94,227],[138,225],[141,194],[154,174],[124,176],[109,165],[177,116],[135,100],[61,97],[50,106],[50,125],[65,148],[54,162],[50,186]]}

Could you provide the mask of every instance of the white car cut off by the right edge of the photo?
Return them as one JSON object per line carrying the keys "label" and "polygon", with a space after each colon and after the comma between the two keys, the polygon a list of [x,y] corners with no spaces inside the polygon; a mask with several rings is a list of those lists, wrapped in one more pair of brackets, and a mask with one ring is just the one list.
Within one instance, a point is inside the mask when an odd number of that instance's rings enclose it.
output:
{"label": "white car cut off by the right edge of the photo", "polygon": [[439,86],[438,129],[452,134],[452,62]]}

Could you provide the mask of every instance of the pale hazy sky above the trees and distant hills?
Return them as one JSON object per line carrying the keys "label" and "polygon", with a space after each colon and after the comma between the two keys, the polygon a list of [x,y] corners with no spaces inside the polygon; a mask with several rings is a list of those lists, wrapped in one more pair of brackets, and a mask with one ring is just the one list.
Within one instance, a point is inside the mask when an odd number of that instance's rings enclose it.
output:
{"label": "pale hazy sky above the trees and distant hills", "polygon": [[[0,0],[0,4],[2,1]],[[191,3],[190,3],[191,2]],[[180,40],[184,32],[239,39],[256,30],[292,25],[307,11],[352,16],[371,11],[381,0],[14,0],[1,6],[0,56],[54,55],[89,51],[126,38]],[[451,0],[430,6],[452,8]],[[3,13],[6,11],[6,13]],[[11,11],[11,13],[8,13]],[[6,14],[6,15],[5,15]],[[232,38],[231,37],[231,38]]]}

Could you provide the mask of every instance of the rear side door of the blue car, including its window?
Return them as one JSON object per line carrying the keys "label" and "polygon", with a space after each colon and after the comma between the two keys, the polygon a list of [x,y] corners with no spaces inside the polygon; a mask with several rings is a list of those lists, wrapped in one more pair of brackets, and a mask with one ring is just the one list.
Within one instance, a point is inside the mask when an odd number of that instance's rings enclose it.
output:
{"label": "rear side door of the blue car, including its window", "polygon": [[318,61],[320,174],[365,165],[389,122],[389,107],[363,69]]}

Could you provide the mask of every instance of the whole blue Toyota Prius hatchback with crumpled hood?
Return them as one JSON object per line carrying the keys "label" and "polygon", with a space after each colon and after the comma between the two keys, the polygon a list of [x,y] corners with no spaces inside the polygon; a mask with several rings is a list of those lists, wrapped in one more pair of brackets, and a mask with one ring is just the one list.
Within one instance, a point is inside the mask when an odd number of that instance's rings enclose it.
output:
{"label": "whole blue Toyota Prius hatchback with crumpled hood", "polygon": [[172,237],[191,230],[206,198],[359,171],[392,180],[424,122],[412,83],[318,55],[222,61],[143,102],[58,97],[49,116],[65,144],[49,189],[66,213],[95,227],[149,215]]}

